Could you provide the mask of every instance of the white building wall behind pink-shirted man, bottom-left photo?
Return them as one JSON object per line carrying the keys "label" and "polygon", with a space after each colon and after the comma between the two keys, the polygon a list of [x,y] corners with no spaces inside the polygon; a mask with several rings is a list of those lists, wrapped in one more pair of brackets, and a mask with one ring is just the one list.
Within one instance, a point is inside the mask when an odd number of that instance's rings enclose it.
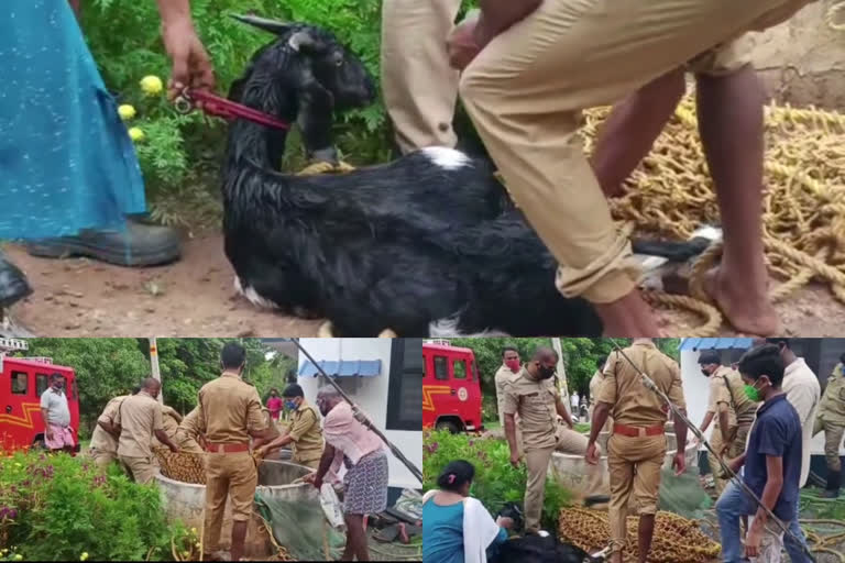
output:
{"label": "white building wall behind pink-shirted man, bottom-left photo", "polygon": [[[317,361],[381,360],[382,373],[374,377],[339,377],[343,391],[366,412],[376,428],[393,442],[417,467],[422,468],[422,430],[386,430],[387,391],[391,379],[391,339],[300,339],[300,344]],[[420,354],[422,351],[420,350]],[[308,358],[299,353],[301,368]],[[320,377],[298,376],[297,383],[311,402],[317,398]],[[328,385],[328,384],[325,384]],[[385,446],[386,448],[386,446]],[[400,488],[420,488],[422,485],[387,449],[389,485]]]}

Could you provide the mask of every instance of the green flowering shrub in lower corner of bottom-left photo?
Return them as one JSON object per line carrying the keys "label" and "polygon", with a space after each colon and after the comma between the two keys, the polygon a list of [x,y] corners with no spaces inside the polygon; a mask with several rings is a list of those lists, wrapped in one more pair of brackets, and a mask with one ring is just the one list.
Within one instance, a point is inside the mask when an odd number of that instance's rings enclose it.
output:
{"label": "green flowering shrub in lower corner of bottom-left photo", "polygon": [[195,532],[165,521],[155,485],[102,474],[90,459],[0,452],[0,558],[161,561],[196,547]]}

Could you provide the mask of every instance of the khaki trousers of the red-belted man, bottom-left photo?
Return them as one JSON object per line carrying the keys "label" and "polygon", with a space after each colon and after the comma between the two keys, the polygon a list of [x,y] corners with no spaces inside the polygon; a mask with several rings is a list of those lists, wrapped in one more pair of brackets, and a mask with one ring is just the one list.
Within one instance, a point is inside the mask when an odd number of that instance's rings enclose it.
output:
{"label": "khaki trousers of the red-belted man, bottom-left photo", "polygon": [[220,549],[226,500],[231,497],[233,521],[248,521],[257,484],[259,472],[250,452],[209,452],[206,455],[206,553]]}

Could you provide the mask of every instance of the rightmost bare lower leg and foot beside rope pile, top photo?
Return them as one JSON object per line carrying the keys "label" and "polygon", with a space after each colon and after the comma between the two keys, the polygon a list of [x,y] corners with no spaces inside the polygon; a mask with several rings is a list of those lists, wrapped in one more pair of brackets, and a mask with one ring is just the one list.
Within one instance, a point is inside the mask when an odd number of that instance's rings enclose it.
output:
{"label": "rightmost bare lower leg and foot beside rope pile, top photo", "polygon": [[709,291],[742,332],[771,335],[780,320],[767,295],[762,244],[765,91],[742,41],[715,49],[696,74],[699,131],[724,229]]}

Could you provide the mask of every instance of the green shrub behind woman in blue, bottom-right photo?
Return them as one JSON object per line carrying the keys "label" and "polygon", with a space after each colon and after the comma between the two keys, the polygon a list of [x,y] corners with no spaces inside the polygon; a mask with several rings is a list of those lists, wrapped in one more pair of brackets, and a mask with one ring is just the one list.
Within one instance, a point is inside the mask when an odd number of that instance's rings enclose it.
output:
{"label": "green shrub behind woman in blue, bottom-right photo", "polygon": [[[495,515],[505,503],[523,501],[528,481],[525,465],[511,465],[511,450],[503,440],[485,440],[448,431],[426,431],[422,441],[422,488],[437,488],[437,477],[449,462],[465,460],[475,466],[472,496]],[[553,479],[546,481],[542,526],[558,529],[558,514],[571,495]]]}

